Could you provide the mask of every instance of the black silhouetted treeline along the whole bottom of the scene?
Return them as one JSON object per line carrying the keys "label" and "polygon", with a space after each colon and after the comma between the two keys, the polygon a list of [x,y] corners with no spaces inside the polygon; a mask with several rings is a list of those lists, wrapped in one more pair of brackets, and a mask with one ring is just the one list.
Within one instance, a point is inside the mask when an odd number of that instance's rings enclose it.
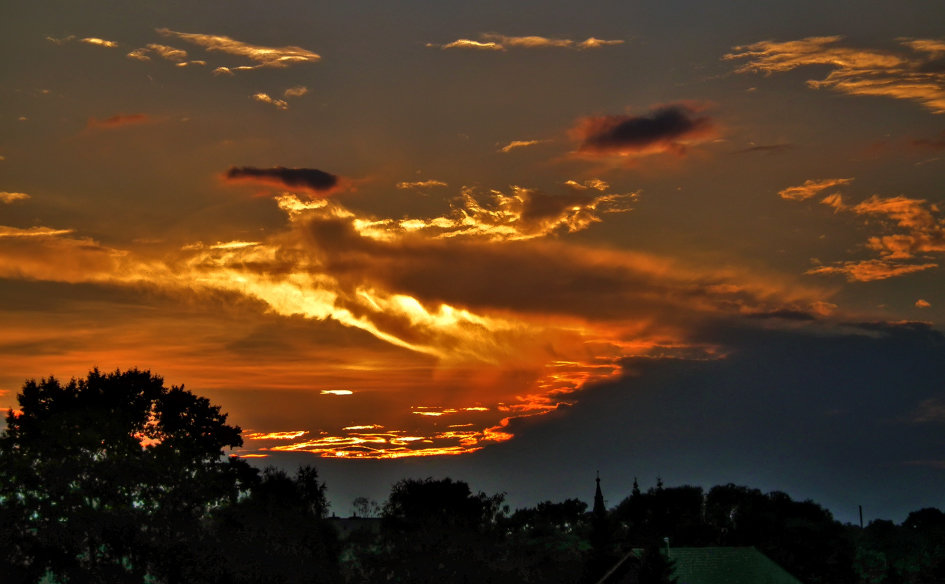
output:
{"label": "black silhouetted treeline along the whole bottom of the scene", "polygon": [[[841,524],[812,501],[661,481],[611,509],[511,510],[462,481],[403,480],[358,520],[328,517],[313,467],[223,456],[240,430],[147,371],[27,382],[0,434],[0,582],[581,583],[631,549],[671,582],[667,545],[755,546],[802,582],[945,582],[945,514]],[[610,488],[611,492],[617,490]]]}

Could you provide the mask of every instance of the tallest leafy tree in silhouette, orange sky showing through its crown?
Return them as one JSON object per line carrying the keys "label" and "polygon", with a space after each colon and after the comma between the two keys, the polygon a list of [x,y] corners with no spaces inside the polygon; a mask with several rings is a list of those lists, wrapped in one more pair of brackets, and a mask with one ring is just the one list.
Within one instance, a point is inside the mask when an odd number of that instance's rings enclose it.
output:
{"label": "tallest leafy tree in silhouette, orange sky showing through its crown", "polygon": [[0,435],[4,582],[179,580],[200,521],[255,471],[206,398],[149,371],[27,381]]}

